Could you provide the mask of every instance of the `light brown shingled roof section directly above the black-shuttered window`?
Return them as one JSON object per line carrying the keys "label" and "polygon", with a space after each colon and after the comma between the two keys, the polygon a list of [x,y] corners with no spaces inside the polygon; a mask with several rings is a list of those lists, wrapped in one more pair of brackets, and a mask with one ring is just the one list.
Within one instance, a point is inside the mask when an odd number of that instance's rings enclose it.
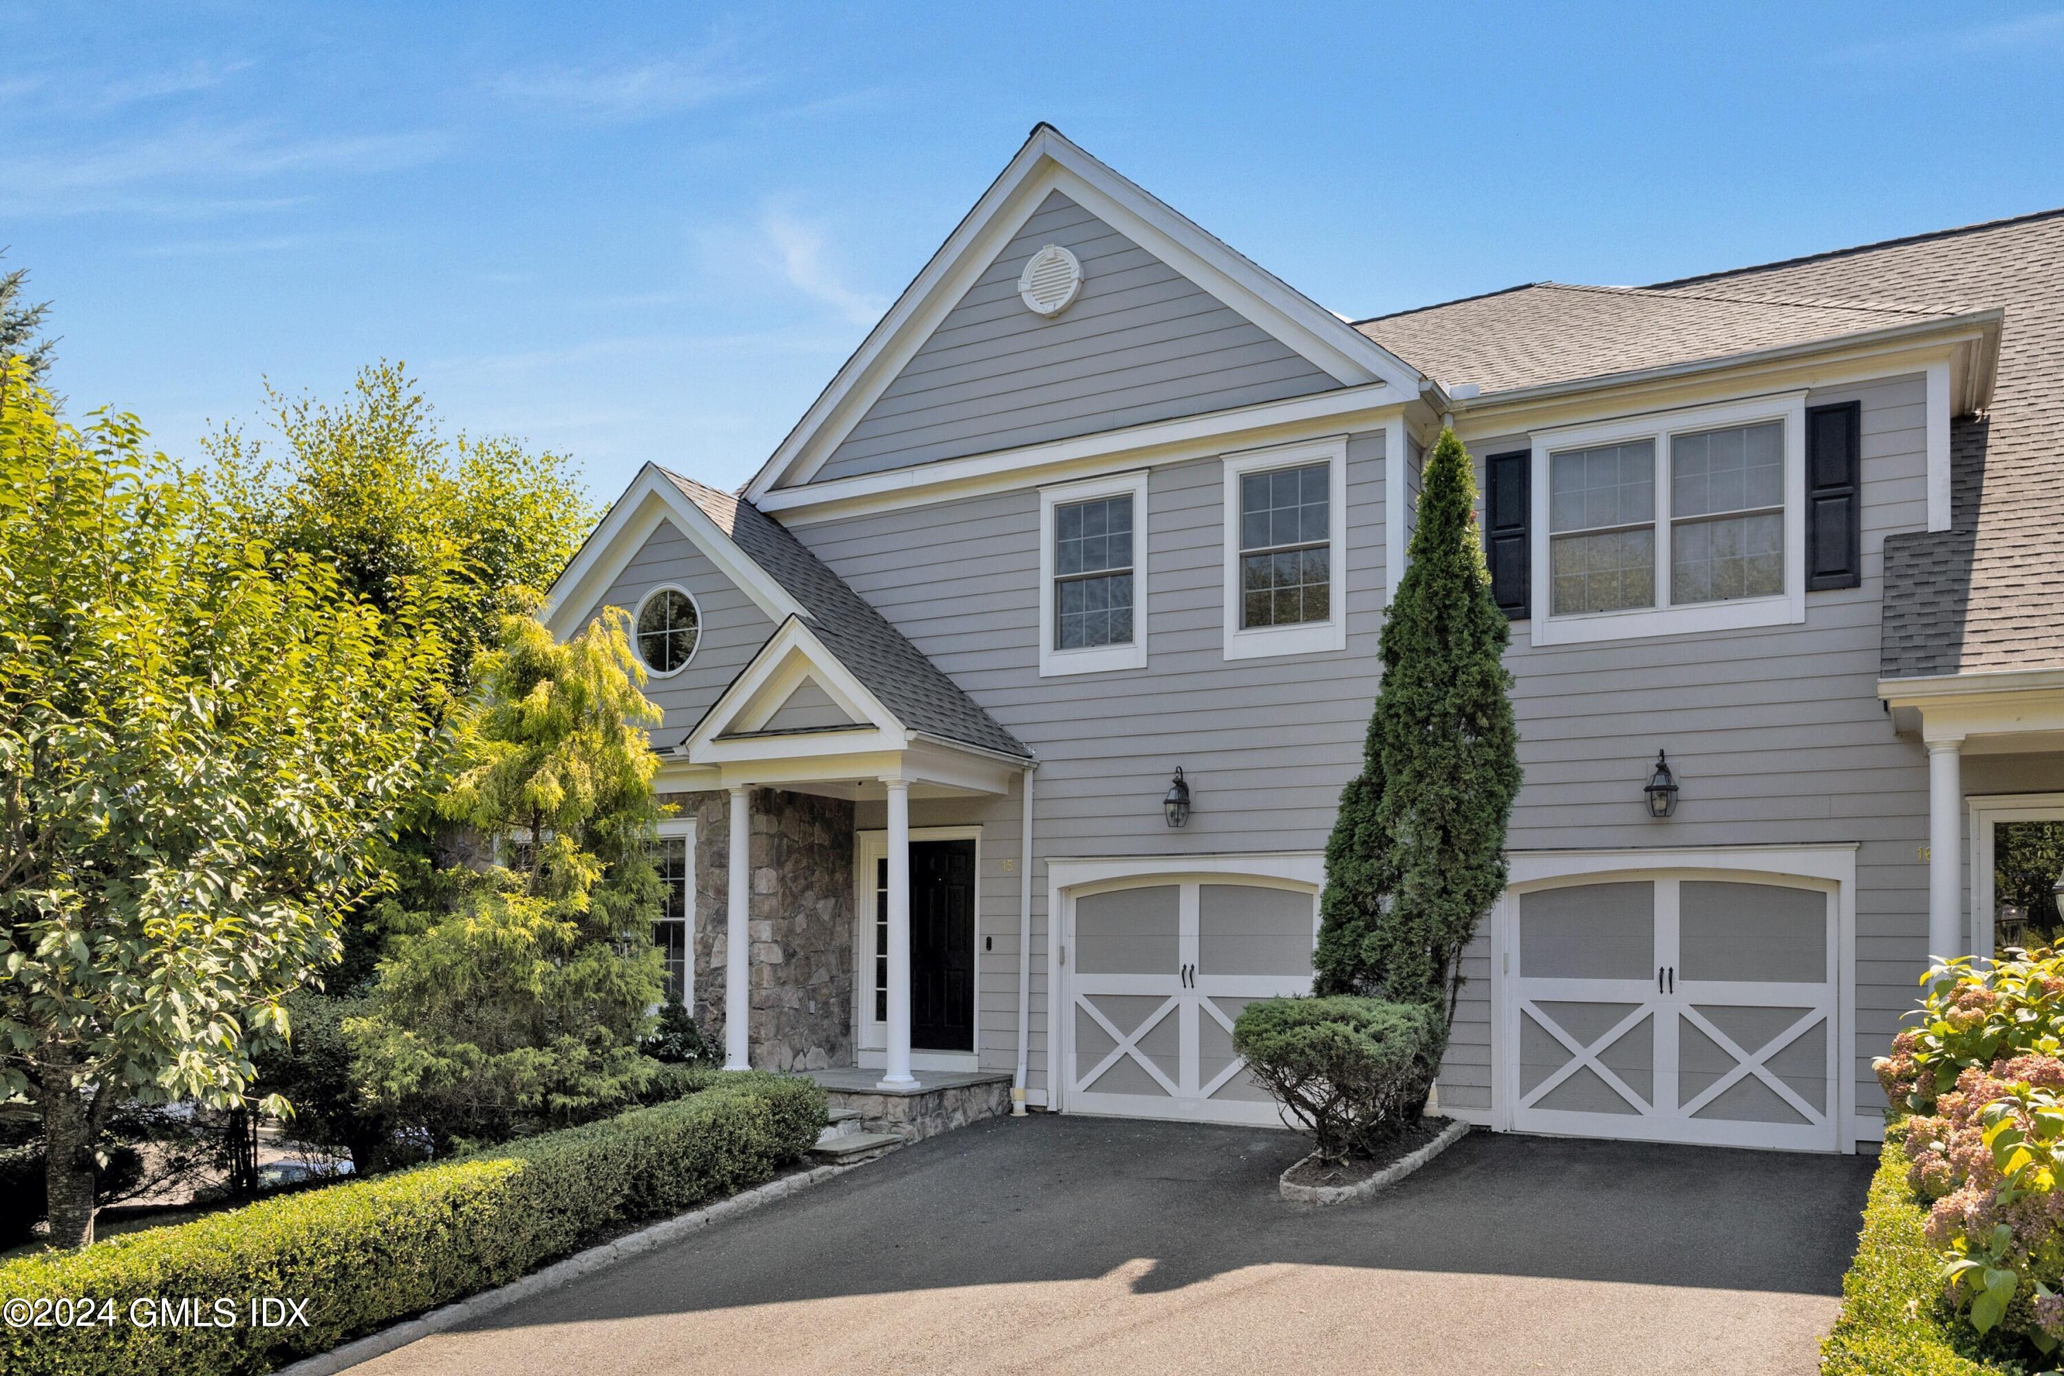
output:
{"label": "light brown shingled roof section directly above the black-shuttered window", "polygon": [[1447,388],[1476,384],[1496,394],[1944,322],[1963,309],[1946,301],[1833,299],[1719,283],[1676,289],[1529,283],[1354,328]]}

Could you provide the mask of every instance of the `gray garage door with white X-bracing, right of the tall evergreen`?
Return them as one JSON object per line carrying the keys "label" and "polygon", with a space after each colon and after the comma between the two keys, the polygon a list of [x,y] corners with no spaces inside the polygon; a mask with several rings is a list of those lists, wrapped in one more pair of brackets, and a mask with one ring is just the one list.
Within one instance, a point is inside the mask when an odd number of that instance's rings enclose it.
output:
{"label": "gray garage door with white X-bracing, right of the tall evergreen", "polygon": [[1515,1128],[1837,1149],[1827,885],[1643,875],[1513,902]]}

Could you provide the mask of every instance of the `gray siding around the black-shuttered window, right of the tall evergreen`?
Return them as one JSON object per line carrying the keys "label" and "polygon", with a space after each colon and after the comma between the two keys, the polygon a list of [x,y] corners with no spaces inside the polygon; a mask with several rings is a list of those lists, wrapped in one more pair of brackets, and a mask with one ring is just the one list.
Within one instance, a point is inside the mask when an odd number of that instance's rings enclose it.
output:
{"label": "gray siding around the black-shuttered window, right of the tall evergreen", "polygon": [[[1928,522],[1920,378],[1814,392],[1864,402],[1864,584],[1808,592],[1806,623],[1750,631],[1534,646],[1513,623],[1525,790],[1513,850],[1856,842],[1858,1112],[1884,1106],[1870,1058],[1911,1007],[1928,935],[1928,759],[1876,697],[1884,536]],[[1476,456],[1525,448],[1501,437]],[[1482,462],[1478,462],[1482,479]],[[1678,815],[1641,800],[1668,749]],[[1973,790],[1977,792],[1977,790]],[[1490,1108],[1490,947],[1463,963],[1441,1075],[1453,1108]]]}

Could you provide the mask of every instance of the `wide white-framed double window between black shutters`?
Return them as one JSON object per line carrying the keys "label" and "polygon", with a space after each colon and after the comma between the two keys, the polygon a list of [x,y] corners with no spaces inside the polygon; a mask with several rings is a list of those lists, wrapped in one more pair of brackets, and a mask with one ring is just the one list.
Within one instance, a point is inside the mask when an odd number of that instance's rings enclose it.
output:
{"label": "wide white-framed double window between black shutters", "polygon": [[1804,394],[1534,435],[1534,644],[1806,619]]}

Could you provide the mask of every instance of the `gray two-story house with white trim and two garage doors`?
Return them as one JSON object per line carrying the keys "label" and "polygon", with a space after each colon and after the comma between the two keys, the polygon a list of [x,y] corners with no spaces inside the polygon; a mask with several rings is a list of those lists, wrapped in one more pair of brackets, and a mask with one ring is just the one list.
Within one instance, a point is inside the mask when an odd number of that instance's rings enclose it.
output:
{"label": "gray two-story house with white trim and two garage doors", "polygon": [[636,621],[729,1060],[1276,1122],[1230,1027],[1309,988],[1445,421],[1525,790],[1441,1108],[1878,1139],[1990,829],[2064,817],[2064,210],[1350,324],[1051,126],[741,493],[644,468],[553,588]]}

